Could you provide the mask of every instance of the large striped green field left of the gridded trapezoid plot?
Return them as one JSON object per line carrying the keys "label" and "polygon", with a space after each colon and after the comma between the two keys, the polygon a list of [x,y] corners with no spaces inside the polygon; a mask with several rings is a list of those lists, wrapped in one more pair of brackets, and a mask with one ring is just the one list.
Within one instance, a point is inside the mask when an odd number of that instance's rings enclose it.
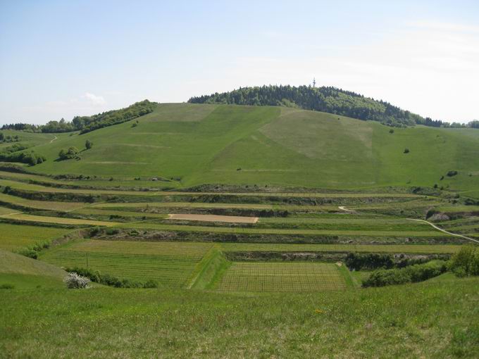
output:
{"label": "large striped green field left of the gridded trapezoid plot", "polygon": [[101,273],[164,286],[181,287],[211,244],[129,241],[80,241],[42,254],[47,263],[62,267],[89,267]]}

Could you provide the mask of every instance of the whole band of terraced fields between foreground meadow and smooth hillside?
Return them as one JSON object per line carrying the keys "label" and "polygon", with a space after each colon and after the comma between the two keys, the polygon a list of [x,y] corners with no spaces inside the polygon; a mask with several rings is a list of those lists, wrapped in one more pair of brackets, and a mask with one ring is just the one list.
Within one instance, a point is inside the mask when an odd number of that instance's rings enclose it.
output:
{"label": "whole band of terraced fields between foreground meadow and smooth hillside", "polygon": [[[0,177],[1,186],[19,190],[0,194],[0,203],[4,203],[0,218],[92,230],[88,233],[93,239],[44,250],[40,260],[62,267],[89,267],[122,279],[153,279],[166,287],[194,286],[197,278],[213,273],[205,280],[218,291],[353,287],[353,283],[361,282],[360,273],[351,277],[346,267],[319,260],[344,258],[350,252],[412,256],[455,253],[465,239],[406,216],[412,213],[414,218],[424,218],[430,208],[452,208],[454,213],[474,208],[454,205],[439,196],[407,193],[120,191],[70,188],[74,181],[30,174],[8,176],[0,172]],[[23,198],[38,194],[42,194],[40,199],[58,201]],[[87,195],[96,196],[95,203],[78,197]],[[351,206],[344,207],[344,201]],[[476,233],[478,226],[471,217],[439,224],[458,233]],[[108,228],[93,231],[92,227]],[[48,227],[18,228],[30,231],[30,239],[5,240],[2,248],[14,250],[35,243],[33,232],[38,232],[39,239],[51,241],[69,230],[55,229],[57,233]],[[259,261],[268,253],[276,254],[267,258],[268,262]],[[249,255],[254,260],[249,260]],[[273,261],[282,256],[288,261]]]}

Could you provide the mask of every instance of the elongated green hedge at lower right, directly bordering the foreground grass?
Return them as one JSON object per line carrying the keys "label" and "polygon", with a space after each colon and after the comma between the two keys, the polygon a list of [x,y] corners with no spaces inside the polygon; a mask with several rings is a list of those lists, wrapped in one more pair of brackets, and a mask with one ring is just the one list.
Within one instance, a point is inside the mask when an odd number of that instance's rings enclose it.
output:
{"label": "elongated green hedge at lower right, directly bordering the foreground grass", "polygon": [[401,269],[375,270],[363,282],[363,286],[390,286],[423,282],[426,279],[442,275],[444,272],[447,272],[447,263],[444,260],[433,260],[429,263],[411,265]]}

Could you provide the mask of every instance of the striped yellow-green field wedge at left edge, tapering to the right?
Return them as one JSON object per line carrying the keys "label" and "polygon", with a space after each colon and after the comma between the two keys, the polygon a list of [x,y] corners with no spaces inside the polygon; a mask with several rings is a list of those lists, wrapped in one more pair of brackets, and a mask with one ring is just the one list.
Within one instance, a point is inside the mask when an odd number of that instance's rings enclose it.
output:
{"label": "striped yellow-green field wedge at left edge, tapering to the right", "polygon": [[70,231],[71,229],[0,223],[0,248],[6,251],[16,251],[20,248],[51,241]]}

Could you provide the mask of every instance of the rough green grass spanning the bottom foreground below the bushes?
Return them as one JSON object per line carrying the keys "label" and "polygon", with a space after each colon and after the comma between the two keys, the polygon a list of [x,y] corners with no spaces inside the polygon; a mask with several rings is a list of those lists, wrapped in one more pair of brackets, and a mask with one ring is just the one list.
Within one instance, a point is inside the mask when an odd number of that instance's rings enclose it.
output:
{"label": "rough green grass spanning the bottom foreground below the bushes", "polygon": [[3,290],[4,357],[474,358],[479,279],[328,294]]}

